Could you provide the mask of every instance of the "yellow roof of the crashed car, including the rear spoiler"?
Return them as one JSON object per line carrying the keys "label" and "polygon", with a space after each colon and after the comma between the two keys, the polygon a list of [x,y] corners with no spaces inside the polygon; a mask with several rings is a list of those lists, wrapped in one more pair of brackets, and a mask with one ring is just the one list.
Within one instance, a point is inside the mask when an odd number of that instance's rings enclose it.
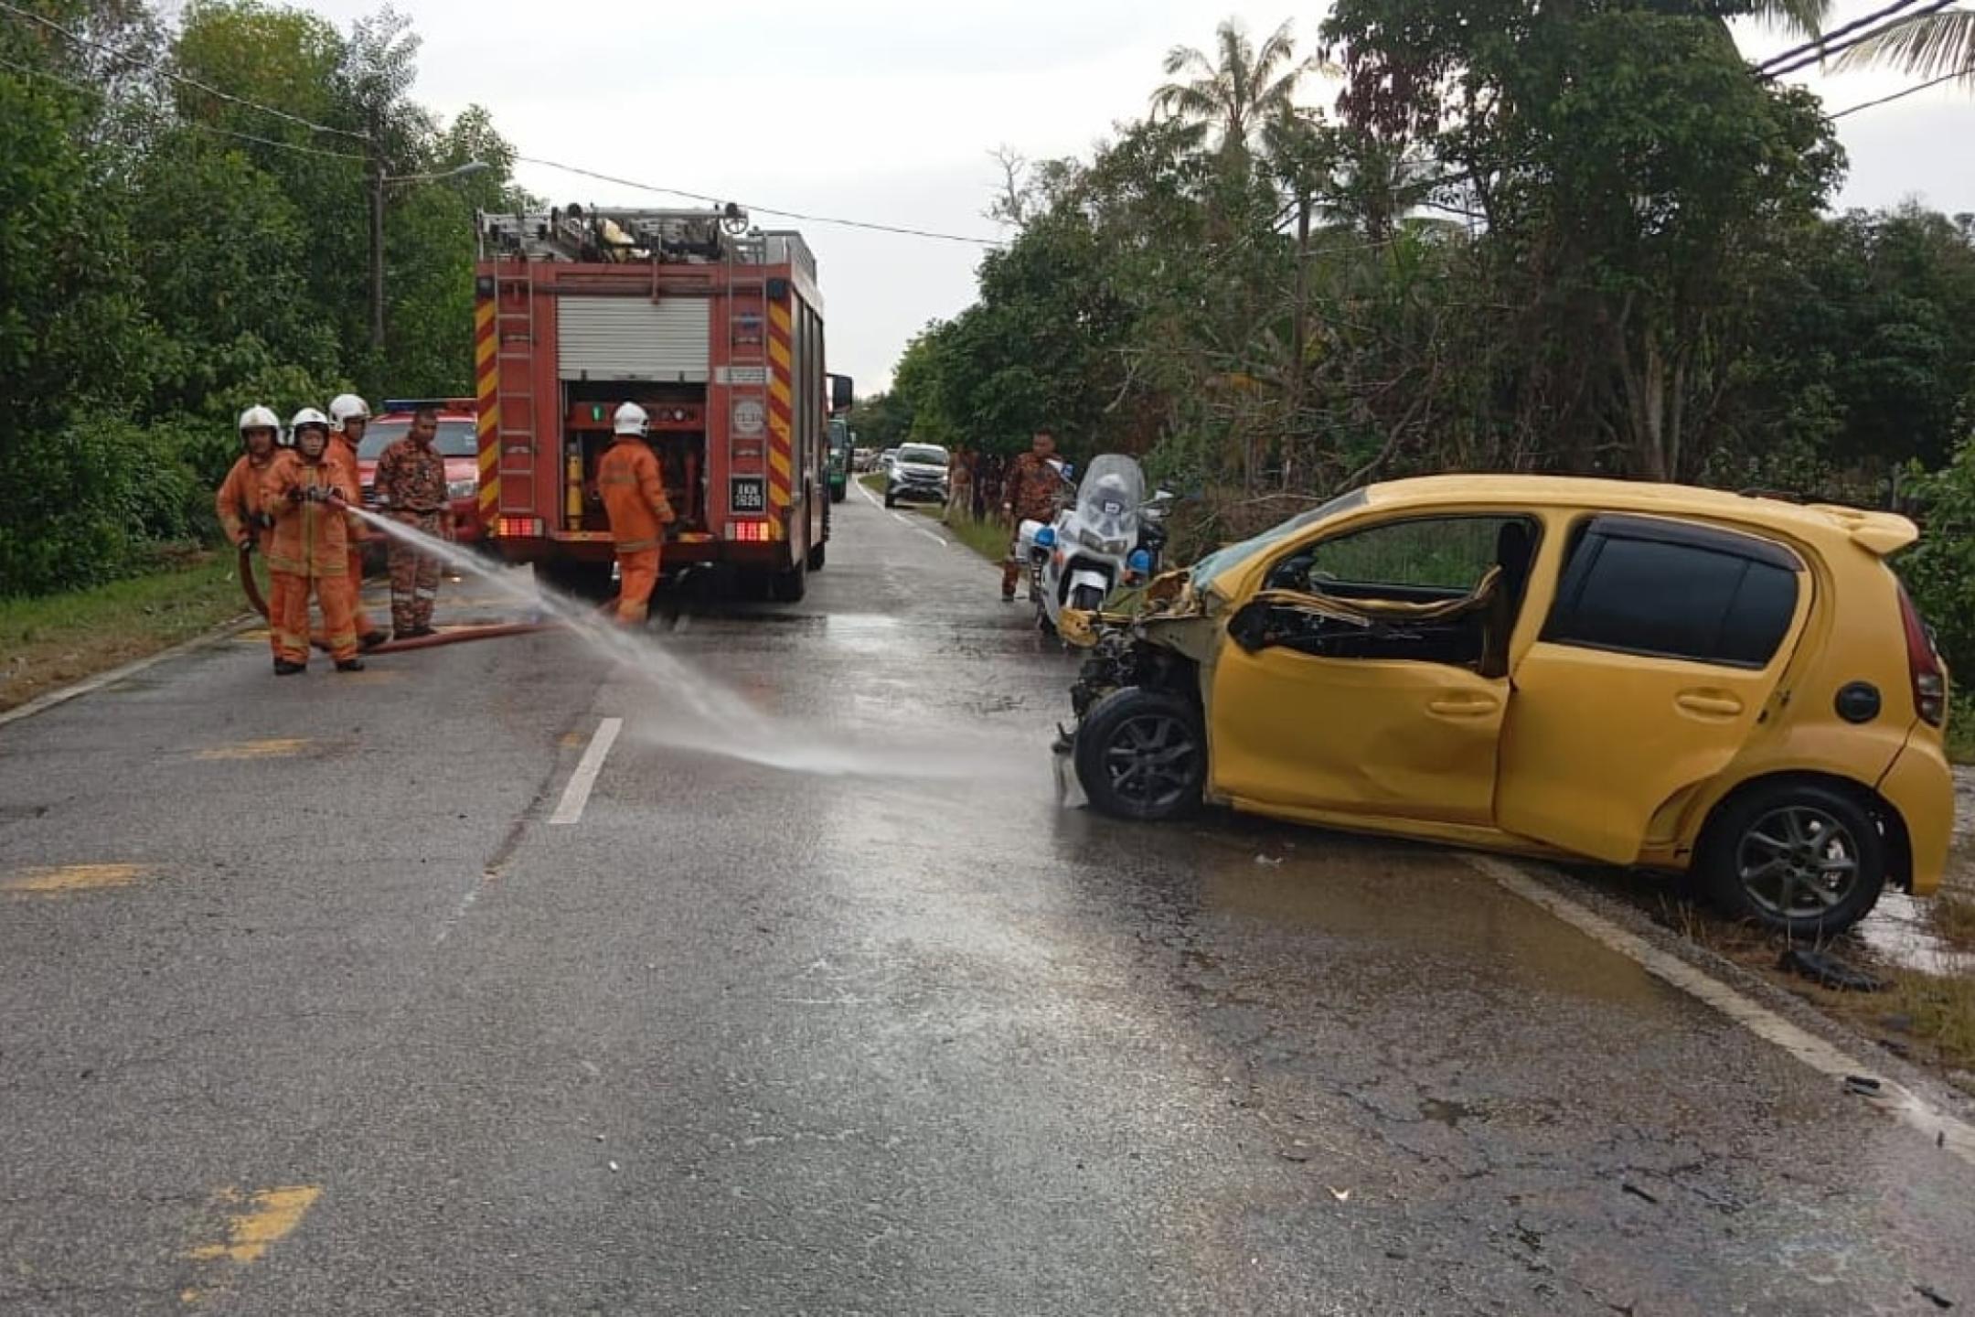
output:
{"label": "yellow roof of the crashed car, including the rear spoiler", "polygon": [[1702,490],[1698,486],[1598,480],[1588,476],[1414,476],[1410,480],[1388,480],[1369,486],[1365,498],[1379,507],[1517,504],[1710,517],[1781,531],[1809,541],[1849,539],[1878,555],[1904,549],[1920,537],[1912,521],[1892,511],[1868,511],[1839,504],[1797,504],[1781,498],[1730,494],[1728,490]]}

